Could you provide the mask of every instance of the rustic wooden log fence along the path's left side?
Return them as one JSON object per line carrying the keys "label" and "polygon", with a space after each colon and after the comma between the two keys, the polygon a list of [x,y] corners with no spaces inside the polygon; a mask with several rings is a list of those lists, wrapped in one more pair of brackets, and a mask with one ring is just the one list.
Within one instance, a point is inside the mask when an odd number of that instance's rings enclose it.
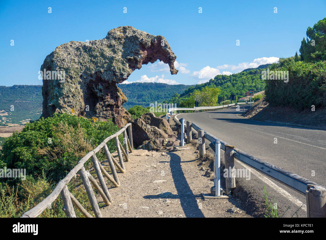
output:
{"label": "rustic wooden log fence along the path's left side", "polygon": [[[127,136],[126,129],[128,129],[129,138]],[[120,134],[123,134],[124,137],[124,146],[120,143],[118,137]],[[111,139],[115,139],[115,145],[117,148],[119,163],[114,159],[114,157],[111,155],[107,142]],[[108,160],[109,166],[112,171],[112,176],[102,167],[101,163],[96,157],[96,153],[100,151],[103,148],[104,153],[106,155],[106,158]],[[69,192],[67,184],[71,181],[71,179],[76,176],[77,172],[79,172],[80,177],[82,178],[82,183],[85,187],[86,193],[88,195],[88,198],[90,200],[94,215],[96,217],[102,217],[102,214],[100,212],[100,209],[98,207],[98,203],[93,191],[93,188],[91,186],[91,183],[93,184],[94,188],[98,191],[98,193],[101,195],[104,203],[106,205],[111,205],[113,200],[111,198],[111,195],[109,193],[108,187],[106,186],[106,183],[104,181],[104,177],[107,178],[111,183],[113,183],[114,186],[118,187],[120,186],[120,181],[118,178],[118,174],[116,172],[115,166],[121,171],[126,172],[124,160],[122,157],[122,154],[125,156],[126,161],[129,161],[129,151],[133,152],[133,141],[132,141],[132,129],[131,129],[131,123],[126,124],[123,128],[121,128],[117,133],[107,137],[104,139],[101,144],[99,144],[94,150],[87,153],[79,162],[78,164],[71,169],[71,171],[67,174],[67,176],[62,179],[57,186],[54,188],[52,193],[46,197],[43,201],[41,201],[39,204],[37,204],[34,208],[27,211],[22,215],[22,217],[37,217],[39,216],[47,207],[49,207],[54,200],[61,194],[64,207],[63,210],[67,217],[76,217],[75,210],[73,205],[85,216],[85,217],[92,217],[91,214],[89,214],[82,205],[78,202],[78,200]],[[99,186],[94,179],[94,177],[85,170],[84,164],[85,162],[90,159],[92,160],[96,175],[98,177],[99,183],[101,186]],[[104,177],[103,177],[104,175]]]}

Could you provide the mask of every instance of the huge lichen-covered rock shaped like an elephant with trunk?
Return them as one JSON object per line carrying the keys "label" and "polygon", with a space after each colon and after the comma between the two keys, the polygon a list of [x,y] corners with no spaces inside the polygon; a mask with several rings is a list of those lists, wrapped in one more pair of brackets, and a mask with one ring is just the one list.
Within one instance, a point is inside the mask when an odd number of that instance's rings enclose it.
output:
{"label": "huge lichen-covered rock shaped like an elephant with trunk", "polygon": [[[104,39],[58,46],[41,66],[42,117],[69,113],[111,118],[122,127],[130,114],[122,107],[127,98],[116,84],[128,79],[142,64],[157,59],[169,64],[171,74],[178,72],[174,67],[176,56],[163,36],[131,26],[112,29]],[[60,71],[63,78],[56,75]]]}

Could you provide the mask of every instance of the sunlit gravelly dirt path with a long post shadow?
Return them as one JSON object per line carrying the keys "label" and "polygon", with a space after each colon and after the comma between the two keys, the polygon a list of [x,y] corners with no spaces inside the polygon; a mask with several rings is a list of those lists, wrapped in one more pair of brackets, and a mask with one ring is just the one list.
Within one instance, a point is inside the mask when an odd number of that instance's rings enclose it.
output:
{"label": "sunlit gravelly dirt path with a long post shadow", "polygon": [[[121,186],[109,189],[114,202],[101,208],[103,217],[250,217],[235,198],[203,199],[213,182],[200,170],[195,147],[186,146],[190,149],[130,153],[126,173],[118,172]],[[240,210],[228,213],[233,207]]]}

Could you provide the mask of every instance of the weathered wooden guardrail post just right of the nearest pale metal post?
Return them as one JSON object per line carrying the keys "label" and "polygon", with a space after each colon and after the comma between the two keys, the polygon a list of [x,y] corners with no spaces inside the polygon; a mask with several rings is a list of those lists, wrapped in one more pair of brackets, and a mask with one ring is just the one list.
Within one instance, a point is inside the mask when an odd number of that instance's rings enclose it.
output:
{"label": "weathered wooden guardrail post just right of the nearest pale metal post", "polygon": [[235,168],[234,168],[234,146],[231,145],[224,145],[224,163],[227,177],[225,178],[225,187],[226,187],[226,194],[229,195],[231,193],[231,188],[235,188]]}

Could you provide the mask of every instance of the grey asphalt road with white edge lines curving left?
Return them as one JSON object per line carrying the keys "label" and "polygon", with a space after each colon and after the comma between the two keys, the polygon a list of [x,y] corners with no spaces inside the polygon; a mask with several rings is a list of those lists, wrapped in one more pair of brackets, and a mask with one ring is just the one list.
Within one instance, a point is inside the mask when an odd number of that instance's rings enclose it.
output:
{"label": "grey asphalt road with white edge lines curving left", "polygon": [[[248,109],[249,106],[244,108]],[[236,107],[231,107],[210,112],[182,113],[177,118],[194,122],[219,139],[263,161],[326,185],[326,131],[248,120],[241,116],[242,113],[236,111]],[[277,144],[274,143],[275,137]],[[223,151],[221,153],[224,155]],[[246,168],[239,161],[235,165],[236,168]],[[253,169],[250,180],[238,178],[237,181],[250,196],[257,199],[263,199],[265,185],[270,198],[275,197],[280,215],[290,207],[284,216],[295,217],[298,214],[299,217],[306,217],[305,195]]]}

